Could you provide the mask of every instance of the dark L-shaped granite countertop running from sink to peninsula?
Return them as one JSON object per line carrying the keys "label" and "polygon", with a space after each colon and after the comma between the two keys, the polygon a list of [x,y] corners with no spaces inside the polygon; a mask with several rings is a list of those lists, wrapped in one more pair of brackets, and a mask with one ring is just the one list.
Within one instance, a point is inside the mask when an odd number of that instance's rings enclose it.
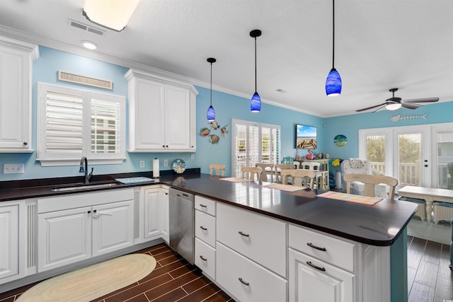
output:
{"label": "dark L-shaped granite countertop running from sink to peninsula", "polygon": [[[132,177],[131,175],[121,176]],[[133,173],[133,175],[149,177],[147,173]],[[369,245],[393,244],[418,208],[413,202],[391,202],[389,199],[369,206],[316,197],[316,191],[285,192],[262,187],[262,182],[219,180],[217,176],[200,174],[199,169],[195,169],[195,173],[183,175],[176,173],[161,173],[161,175],[161,178],[154,182],[155,184],[170,185],[179,190]],[[98,178],[96,183],[111,182],[115,178],[117,175],[110,176],[110,179]],[[52,187],[56,185],[45,185],[43,180],[36,183],[31,180],[28,182],[30,182],[28,187],[14,187],[12,182],[9,188],[0,185],[0,202],[80,192],[52,192]],[[152,183],[137,185],[152,185]],[[96,191],[137,185],[117,185],[112,188],[96,189]],[[90,191],[95,190],[83,192]]]}

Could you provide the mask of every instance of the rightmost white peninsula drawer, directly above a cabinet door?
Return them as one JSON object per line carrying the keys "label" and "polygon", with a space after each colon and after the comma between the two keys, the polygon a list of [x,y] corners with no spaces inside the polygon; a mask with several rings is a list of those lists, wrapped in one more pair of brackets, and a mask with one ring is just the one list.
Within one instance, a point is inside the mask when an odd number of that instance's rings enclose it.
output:
{"label": "rightmost white peninsula drawer, directly above a cabinet door", "polygon": [[355,272],[355,243],[289,225],[289,247]]}

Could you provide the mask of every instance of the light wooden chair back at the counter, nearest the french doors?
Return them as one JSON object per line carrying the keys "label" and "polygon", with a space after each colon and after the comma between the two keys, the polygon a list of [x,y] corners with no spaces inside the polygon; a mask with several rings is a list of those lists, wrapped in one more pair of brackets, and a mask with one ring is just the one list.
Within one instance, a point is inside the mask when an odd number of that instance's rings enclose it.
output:
{"label": "light wooden chair back at the counter, nearest the french doors", "polygon": [[[365,190],[362,195],[375,197],[374,185],[385,184],[389,186],[389,193],[387,197],[390,200],[394,200],[395,197],[395,187],[398,185],[398,180],[396,178],[391,178],[386,175],[372,175],[372,174],[345,174],[343,175],[343,180],[346,182],[346,193],[350,194],[351,192],[351,182],[358,181],[365,184]],[[381,197],[381,196],[378,196]]]}

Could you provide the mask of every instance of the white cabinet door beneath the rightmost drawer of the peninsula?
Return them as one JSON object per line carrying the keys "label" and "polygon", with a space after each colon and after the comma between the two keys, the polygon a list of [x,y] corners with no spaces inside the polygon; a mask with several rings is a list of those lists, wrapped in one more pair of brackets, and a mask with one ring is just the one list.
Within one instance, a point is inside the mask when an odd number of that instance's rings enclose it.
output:
{"label": "white cabinet door beneath the rightmost drawer of the peninsula", "polygon": [[289,249],[290,302],[353,302],[355,275]]}

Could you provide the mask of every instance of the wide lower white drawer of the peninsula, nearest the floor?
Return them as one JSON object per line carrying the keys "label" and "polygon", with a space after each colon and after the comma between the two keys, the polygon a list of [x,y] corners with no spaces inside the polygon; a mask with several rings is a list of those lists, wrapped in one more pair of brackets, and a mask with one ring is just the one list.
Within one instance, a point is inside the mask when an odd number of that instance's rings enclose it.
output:
{"label": "wide lower white drawer of the peninsula, nearest the floor", "polygon": [[222,243],[217,244],[216,281],[238,301],[287,301],[287,281]]}

